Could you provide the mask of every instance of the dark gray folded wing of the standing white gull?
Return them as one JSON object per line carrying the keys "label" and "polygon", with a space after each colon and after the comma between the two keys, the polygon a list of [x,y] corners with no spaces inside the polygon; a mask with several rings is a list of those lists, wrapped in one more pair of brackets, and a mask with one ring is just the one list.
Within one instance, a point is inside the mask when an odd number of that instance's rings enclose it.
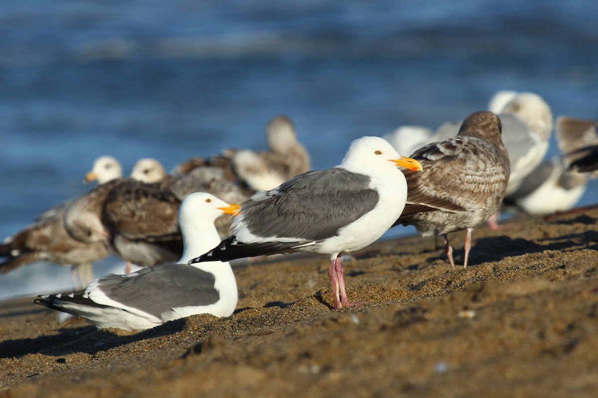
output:
{"label": "dark gray folded wing of the standing white gull", "polygon": [[370,177],[337,167],[300,174],[266,196],[243,203],[243,223],[249,231],[301,241],[336,235],[373,210],[379,199],[370,188]]}

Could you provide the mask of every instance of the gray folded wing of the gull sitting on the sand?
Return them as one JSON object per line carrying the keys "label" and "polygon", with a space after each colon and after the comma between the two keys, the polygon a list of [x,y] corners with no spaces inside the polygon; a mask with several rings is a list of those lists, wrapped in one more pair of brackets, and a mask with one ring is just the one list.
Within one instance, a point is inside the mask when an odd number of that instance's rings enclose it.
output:
{"label": "gray folded wing of the gull sitting on the sand", "polygon": [[196,267],[164,264],[143,268],[137,274],[109,274],[100,278],[97,287],[112,300],[157,318],[172,308],[209,305],[220,298],[214,276]]}

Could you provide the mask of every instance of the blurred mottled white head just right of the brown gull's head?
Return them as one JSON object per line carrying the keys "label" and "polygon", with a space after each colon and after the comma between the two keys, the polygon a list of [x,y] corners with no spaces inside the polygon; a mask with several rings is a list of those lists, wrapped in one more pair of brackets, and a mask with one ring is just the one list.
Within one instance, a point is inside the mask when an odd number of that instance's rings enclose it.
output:
{"label": "blurred mottled white head just right of the brown gull's head", "polygon": [[553,130],[553,113],[541,96],[534,93],[519,93],[505,105],[505,114],[517,115],[542,139],[548,141]]}

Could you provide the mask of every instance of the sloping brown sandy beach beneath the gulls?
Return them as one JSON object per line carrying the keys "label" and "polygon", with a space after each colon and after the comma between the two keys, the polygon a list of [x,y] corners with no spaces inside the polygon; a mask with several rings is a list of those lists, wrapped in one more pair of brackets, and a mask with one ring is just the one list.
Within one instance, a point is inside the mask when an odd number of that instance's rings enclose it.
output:
{"label": "sloping brown sandy beach beneath the gulls", "polygon": [[597,396],[598,208],[482,226],[466,269],[419,236],[354,254],[343,310],[316,255],[237,264],[233,316],[144,332],[3,302],[0,397]]}

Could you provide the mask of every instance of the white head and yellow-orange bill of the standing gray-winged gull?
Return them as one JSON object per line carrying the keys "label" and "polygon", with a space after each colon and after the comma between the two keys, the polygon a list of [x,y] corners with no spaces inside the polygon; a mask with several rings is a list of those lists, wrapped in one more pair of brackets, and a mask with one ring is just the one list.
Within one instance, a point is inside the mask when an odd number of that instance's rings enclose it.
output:
{"label": "white head and yellow-orange bill of the standing gray-winged gull", "polygon": [[402,157],[395,148],[380,137],[361,137],[349,147],[340,167],[351,172],[373,174],[382,170],[396,169],[396,166],[409,170],[422,170],[417,160]]}

